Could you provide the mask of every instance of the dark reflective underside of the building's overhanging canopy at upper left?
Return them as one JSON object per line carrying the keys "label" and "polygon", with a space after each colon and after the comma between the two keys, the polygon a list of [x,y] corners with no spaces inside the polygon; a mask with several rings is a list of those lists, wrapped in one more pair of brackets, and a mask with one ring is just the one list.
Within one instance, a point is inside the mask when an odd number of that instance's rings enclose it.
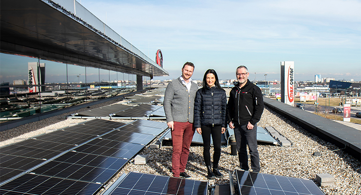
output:
{"label": "dark reflective underside of the building's overhanging canopy at upper left", "polygon": [[70,12],[64,12],[61,6],[44,1],[1,1],[2,53],[151,78],[168,75],[153,61],[146,61],[100,31],[96,32],[84,22],[86,19],[69,16]]}

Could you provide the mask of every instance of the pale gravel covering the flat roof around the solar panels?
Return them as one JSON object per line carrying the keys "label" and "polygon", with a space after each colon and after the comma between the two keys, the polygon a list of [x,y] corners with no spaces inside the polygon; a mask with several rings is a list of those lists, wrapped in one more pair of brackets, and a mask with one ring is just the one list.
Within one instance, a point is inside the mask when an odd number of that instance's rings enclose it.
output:
{"label": "pale gravel covering the flat roof around the solar panels", "polygon": [[[106,104],[108,105],[109,103]],[[95,108],[95,106],[92,108]],[[84,110],[88,109],[82,109],[81,111]],[[49,129],[60,129],[68,126],[70,123],[85,121],[84,119],[65,119],[63,117],[65,115],[66,114],[28,125],[22,125],[14,128],[15,130],[11,129],[10,131],[0,132],[0,139],[3,139],[3,141],[0,142],[0,146],[11,144],[18,138],[33,137],[45,133],[45,131]],[[32,126],[33,131],[27,129],[29,125]],[[300,126],[267,108],[264,110],[258,126],[273,126],[283,136],[293,142],[293,145],[290,147],[259,144],[261,173],[307,178],[312,179],[314,182],[316,182],[316,174],[327,173],[335,177],[335,185],[320,187],[326,195],[361,195],[360,160],[343,152],[334,144],[308,133]],[[38,129],[35,127],[38,127]],[[20,136],[14,136],[14,134]],[[209,186],[228,184],[228,172],[239,169],[238,156],[231,156],[230,152],[230,146],[222,148],[219,166],[224,178],[209,180]],[[312,154],[314,152],[321,152],[322,155],[313,156]],[[193,157],[193,160],[188,161],[186,172],[192,176],[193,179],[207,180],[207,172],[202,153],[202,146],[191,146],[190,156]],[[213,151],[211,149],[211,154],[212,153]],[[106,185],[106,188],[123,173],[129,173],[130,171],[172,176],[171,146],[162,146],[160,149],[150,149],[146,147],[140,151],[140,154],[148,155],[149,160],[147,164],[135,165],[134,160],[131,160],[120,170],[117,176]],[[100,195],[101,192],[98,194]]]}

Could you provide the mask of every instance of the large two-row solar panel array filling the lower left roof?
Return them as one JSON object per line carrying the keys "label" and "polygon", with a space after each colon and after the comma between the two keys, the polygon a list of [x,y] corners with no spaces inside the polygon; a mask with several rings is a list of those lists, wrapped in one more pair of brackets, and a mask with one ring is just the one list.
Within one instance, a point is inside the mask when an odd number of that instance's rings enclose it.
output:
{"label": "large two-row solar panel array filling the lower left roof", "polygon": [[[95,194],[167,128],[158,123],[94,119],[2,147],[0,194]],[[119,132],[124,139],[107,137]]]}

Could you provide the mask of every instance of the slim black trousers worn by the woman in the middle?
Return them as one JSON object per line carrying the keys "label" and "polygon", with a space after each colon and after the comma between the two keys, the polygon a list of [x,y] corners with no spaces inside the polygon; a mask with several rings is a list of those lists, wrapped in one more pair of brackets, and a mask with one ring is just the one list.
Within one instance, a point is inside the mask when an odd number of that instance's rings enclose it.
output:
{"label": "slim black trousers worn by the woman in the middle", "polygon": [[213,139],[213,165],[218,165],[221,157],[221,135],[222,127],[221,125],[202,125],[202,139],[203,139],[203,157],[205,165],[211,165],[211,154],[209,150],[211,149],[211,136]]}

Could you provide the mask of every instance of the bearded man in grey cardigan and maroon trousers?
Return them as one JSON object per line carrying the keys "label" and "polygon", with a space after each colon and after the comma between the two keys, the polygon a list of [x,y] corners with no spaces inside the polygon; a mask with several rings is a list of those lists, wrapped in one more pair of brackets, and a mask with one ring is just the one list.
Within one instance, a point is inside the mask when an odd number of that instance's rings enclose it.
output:
{"label": "bearded man in grey cardigan and maroon trousers", "polygon": [[186,62],[182,68],[182,76],[169,82],[164,93],[164,112],[167,125],[171,128],[172,133],[172,172],[174,177],[191,177],[185,173],[185,165],[196,130],[193,124],[193,114],[198,85],[192,82],[193,70],[194,64]]}

